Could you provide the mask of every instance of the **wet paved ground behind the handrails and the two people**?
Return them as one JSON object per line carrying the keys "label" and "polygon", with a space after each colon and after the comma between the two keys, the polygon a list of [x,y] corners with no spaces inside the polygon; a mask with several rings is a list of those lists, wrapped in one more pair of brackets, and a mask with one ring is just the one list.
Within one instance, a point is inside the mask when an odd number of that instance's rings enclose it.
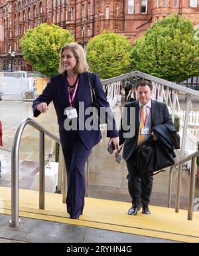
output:
{"label": "wet paved ground behind the handrails and the two people", "polygon": [[[121,104],[114,109],[116,122],[119,126]],[[181,106],[181,105],[180,105]],[[183,109],[184,104],[182,104]],[[192,106],[198,106],[193,103]],[[44,127],[48,128],[58,135],[58,125],[54,106],[50,104],[50,110],[46,114],[40,114],[38,118],[33,117],[32,102],[22,101],[0,101],[0,120],[3,125],[3,146],[11,148],[15,130],[23,118],[33,118]],[[90,155],[90,180],[89,193],[90,197],[103,199],[113,199],[118,201],[129,201],[131,197],[127,191],[127,168],[125,161],[120,164],[115,162],[113,156],[107,152],[108,138],[105,138],[105,130],[102,129],[103,139],[92,149]],[[29,189],[38,172],[38,131],[31,126],[27,126],[23,132],[19,154],[19,188]],[[52,140],[46,136],[46,160],[52,145]],[[11,154],[0,151],[1,159],[1,178],[0,186],[11,186]],[[54,160],[54,156],[53,156]],[[190,175],[188,171],[182,174],[181,204],[182,209],[187,208],[187,195]],[[176,190],[177,176],[174,173],[172,182],[172,201],[174,207],[174,192]],[[197,185],[198,186],[198,185]],[[198,187],[197,187],[198,188]],[[151,195],[152,205],[167,205],[168,192],[168,171],[155,176],[153,184],[153,193]],[[199,197],[199,190],[196,191]]]}

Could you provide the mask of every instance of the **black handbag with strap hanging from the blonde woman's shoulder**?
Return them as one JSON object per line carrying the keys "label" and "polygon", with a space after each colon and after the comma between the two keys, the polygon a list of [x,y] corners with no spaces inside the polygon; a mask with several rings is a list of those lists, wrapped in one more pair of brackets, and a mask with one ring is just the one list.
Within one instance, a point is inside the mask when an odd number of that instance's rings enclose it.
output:
{"label": "black handbag with strap hanging from the blonde woman's shoulder", "polygon": [[90,94],[91,94],[91,98],[92,98],[92,106],[94,108],[96,108],[96,110],[98,112],[99,124],[105,124],[105,120],[101,120],[101,118],[100,118],[100,104],[98,103],[98,98],[96,96],[96,90],[93,85],[94,78],[93,78],[92,72],[88,72],[88,80],[89,80],[89,86],[90,86]]}

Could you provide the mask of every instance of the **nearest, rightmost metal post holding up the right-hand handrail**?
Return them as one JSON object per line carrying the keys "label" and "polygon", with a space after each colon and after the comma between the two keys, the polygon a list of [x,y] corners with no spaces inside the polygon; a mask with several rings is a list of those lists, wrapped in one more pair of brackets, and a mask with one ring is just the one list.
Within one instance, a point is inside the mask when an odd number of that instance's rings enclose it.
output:
{"label": "nearest, rightmost metal post holding up the right-hand handrail", "polygon": [[188,218],[187,218],[190,221],[192,221],[192,217],[193,217],[195,170],[196,170],[196,157],[192,158],[192,166],[191,166],[191,173],[190,173],[190,190],[189,190],[189,199],[188,199]]}

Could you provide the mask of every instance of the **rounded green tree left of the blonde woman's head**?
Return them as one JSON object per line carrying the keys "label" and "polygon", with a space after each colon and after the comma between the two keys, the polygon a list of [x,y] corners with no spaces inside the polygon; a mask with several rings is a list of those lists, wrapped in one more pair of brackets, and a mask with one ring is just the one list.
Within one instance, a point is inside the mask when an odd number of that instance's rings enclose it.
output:
{"label": "rounded green tree left of the blonde woman's head", "polygon": [[52,76],[58,73],[60,49],[73,42],[70,32],[54,24],[46,23],[29,29],[20,41],[25,60],[34,70]]}

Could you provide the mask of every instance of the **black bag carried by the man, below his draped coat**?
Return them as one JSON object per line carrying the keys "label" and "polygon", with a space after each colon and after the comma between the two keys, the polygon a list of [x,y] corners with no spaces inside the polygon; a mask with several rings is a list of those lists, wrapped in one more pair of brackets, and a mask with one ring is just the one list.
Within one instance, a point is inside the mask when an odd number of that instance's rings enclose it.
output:
{"label": "black bag carried by the man, below his draped coat", "polygon": [[141,176],[153,176],[159,172],[164,172],[163,168],[172,166],[174,163],[170,149],[159,140],[154,141],[153,138],[149,137],[146,142],[137,147],[135,164]]}

